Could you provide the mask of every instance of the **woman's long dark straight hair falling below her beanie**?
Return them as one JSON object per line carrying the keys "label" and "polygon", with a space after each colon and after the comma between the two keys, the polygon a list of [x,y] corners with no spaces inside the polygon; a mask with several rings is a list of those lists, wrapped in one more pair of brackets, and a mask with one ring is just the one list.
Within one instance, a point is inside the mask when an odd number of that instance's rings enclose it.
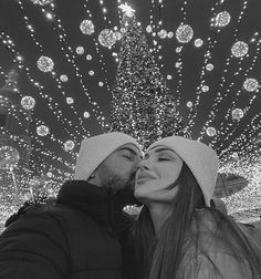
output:
{"label": "woman's long dark straight hair falling below her beanie", "polygon": [[[231,252],[238,260],[247,260],[254,275],[261,272],[261,262],[251,248],[247,237],[237,229],[237,225],[215,208],[206,207],[201,189],[188,166],[184,163],[178,177],[178,193],[173,204],[173,211],[165,221],[159,234],[156,236],[149,210],[146,206],[140,211],[136,224],[137,265],[139,278],[142,279],[175,279],[182,260],[182,247],[186,232],[188,232],[191,220],[196,220],[199,228],[200,218],[197,216],[198,208],[206,208],[217,221],[221,235],[227,232],[238,244],[241,257],[237,255],[233,245],[225,237],[219,240],[226,241]],[[177,182],[174,184],[174,187]],[[197,230],[198,232],[198,230]],[[196,249],[199,235],[196,232]],[[215,237],[215,232],[213,232]],[[208,255],[206,255],[208,257]],[[209,258],[210,262],[211,259]],[[213,268],[215,262],[212,262]],[[218,272],[218,270],[217,270]]]}

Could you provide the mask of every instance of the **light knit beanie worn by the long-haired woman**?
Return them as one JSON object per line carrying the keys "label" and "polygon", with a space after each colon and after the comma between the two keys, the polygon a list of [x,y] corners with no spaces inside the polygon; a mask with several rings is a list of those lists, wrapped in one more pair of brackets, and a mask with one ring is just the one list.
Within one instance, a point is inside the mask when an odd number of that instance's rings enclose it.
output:
{"label": "light knit beanie worn by the long-haired woman", "polygon": [[219,161],[217,153],[203,143],[191,141],[181,136],[161,138],[148,147],[164,145],[178,154],[187,164],[203,194],[205,204],[210,206],[217,176]]}

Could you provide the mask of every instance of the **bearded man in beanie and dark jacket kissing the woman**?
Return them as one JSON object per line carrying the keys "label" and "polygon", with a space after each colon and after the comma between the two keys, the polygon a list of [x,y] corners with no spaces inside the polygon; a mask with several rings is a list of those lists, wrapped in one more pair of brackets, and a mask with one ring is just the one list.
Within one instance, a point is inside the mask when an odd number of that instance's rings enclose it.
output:
{"label": "bearded man in beanie and dark jacket kissing the woman", "polygon": [[134,279],[132,224],[122,209],[134,203],[140,154],[122,133],[84,140],[75,179],[61,187],[56,204],[29,207],[1,235],[0,278]]}

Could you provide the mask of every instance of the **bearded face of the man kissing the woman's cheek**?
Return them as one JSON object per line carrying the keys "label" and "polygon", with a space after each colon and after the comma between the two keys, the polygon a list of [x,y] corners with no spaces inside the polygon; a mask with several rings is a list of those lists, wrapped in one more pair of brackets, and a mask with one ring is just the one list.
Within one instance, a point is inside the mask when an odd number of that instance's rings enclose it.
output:
{"label": "bearded face of the man kissing the woman's cheek", "polygon": [[134,144],[124,144],[98,166],[95,175],[101,186],[112,187],[115,190],[132,189],[140,159],[142,153]]}

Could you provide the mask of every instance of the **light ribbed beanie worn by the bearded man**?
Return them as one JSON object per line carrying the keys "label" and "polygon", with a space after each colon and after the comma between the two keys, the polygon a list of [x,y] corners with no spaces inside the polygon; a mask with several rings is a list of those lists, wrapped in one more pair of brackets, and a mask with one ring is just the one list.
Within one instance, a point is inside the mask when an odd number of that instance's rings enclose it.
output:
{"label": "light ribbed beanie worn by the bearded man", "polygon": [[138,149],[138,143],[123,133],[113,132],[83,140],[79,152],[74,179],[87,180],[91,174],[103,161],[124,144],[134,144]]}

